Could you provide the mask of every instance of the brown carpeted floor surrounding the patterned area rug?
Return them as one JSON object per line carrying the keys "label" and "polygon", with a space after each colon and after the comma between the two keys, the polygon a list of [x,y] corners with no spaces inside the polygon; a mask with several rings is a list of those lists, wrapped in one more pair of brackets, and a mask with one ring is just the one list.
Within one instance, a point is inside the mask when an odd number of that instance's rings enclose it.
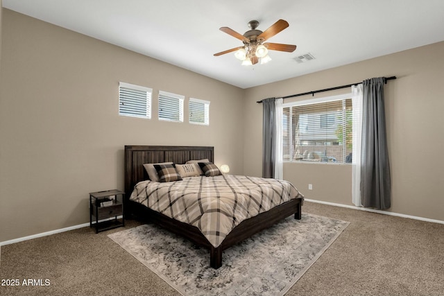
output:
{"label": "brown carpeted floor surrounding the patterned area rug", "polygon": [[[302,211],[350,225],[287,295],[444,295],[443,224],[312,202]],[[0,286],[0,295],[178,295],[108,238],[122,229],[85,227],[2,246],[0,284],[19,286]],[[39,286],[23,286],[25,279]]]}

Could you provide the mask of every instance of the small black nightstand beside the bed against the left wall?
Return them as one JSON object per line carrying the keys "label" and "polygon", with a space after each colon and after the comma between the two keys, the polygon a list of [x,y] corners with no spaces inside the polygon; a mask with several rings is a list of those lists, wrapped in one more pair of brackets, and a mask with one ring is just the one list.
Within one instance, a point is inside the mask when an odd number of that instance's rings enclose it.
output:
{"label": "small black nightstand beside the bed against the left wall", "polygon": [[124,198],[125,193],[117,189],[89,193],[89,227],[99,233],[125,226]]}

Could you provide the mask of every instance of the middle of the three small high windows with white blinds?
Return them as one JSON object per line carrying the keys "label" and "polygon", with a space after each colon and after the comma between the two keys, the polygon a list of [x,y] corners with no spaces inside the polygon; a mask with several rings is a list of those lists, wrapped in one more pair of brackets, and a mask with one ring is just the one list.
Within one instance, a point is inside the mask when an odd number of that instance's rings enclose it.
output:
{"label": "middle of the three small high windows with white blinds", "polygon": [[183,101],[185,96],[159,92],[159,120],[183,122]]}

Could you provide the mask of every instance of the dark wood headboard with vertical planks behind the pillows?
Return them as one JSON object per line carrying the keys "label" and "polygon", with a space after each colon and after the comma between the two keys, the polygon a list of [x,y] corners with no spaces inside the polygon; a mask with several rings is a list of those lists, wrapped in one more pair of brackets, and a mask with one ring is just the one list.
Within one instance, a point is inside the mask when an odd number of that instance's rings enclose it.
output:
{"label": "dark wood headboard with vertical planks behind the pillows", "polygon": [[137,182],[148,180],[143,164],[173,162],[185,164],[191,159],[214,162],[212,146],[125,146],[125,193],[130,198]]}

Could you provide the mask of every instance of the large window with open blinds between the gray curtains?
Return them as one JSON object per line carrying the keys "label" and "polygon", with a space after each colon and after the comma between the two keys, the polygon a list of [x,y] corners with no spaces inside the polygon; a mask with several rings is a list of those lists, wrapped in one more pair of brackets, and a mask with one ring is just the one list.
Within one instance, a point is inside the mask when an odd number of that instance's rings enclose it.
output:
{"label": "large window with open blinds between the gray curtains", "polygon": [[352,99],[349,96],[284,104],[282,155],[291,162],[351,162]]}

